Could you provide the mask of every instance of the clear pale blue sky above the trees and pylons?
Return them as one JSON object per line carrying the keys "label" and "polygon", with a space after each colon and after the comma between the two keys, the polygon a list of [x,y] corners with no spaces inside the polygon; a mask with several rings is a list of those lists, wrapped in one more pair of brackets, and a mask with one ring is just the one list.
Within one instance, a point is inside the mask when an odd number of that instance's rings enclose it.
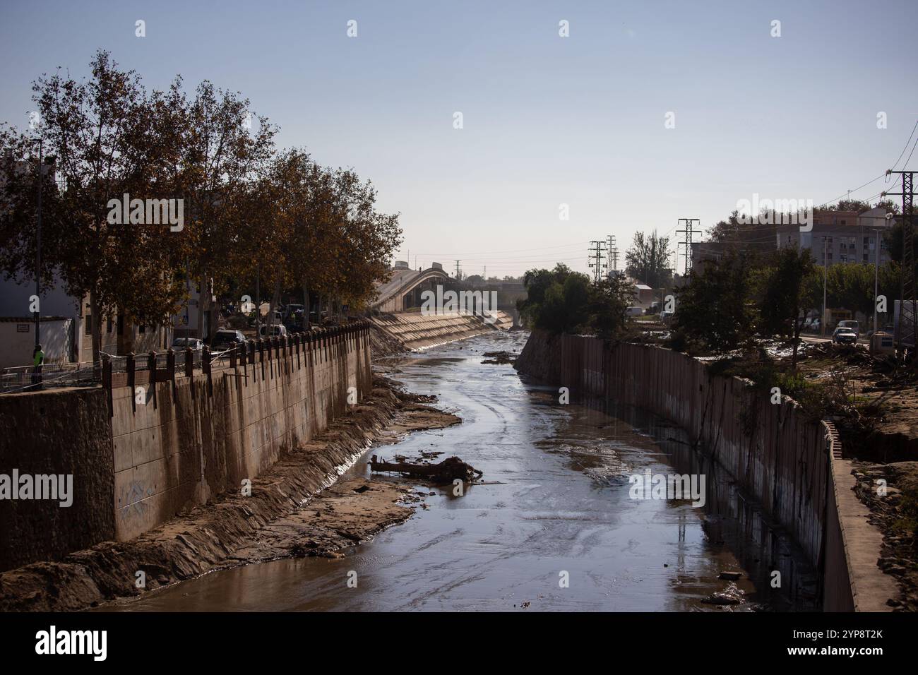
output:
{"label": "clear pale blue sky above the trees and pylons", "polygon": [[412,265],[586,271],[591,239],[623,251],[754,192],[822,203],[881,174],[918,119],[916,31],[914,0],[4,0],[0,119],[27,124],[36,76],[104,48],[151,87],[241,91],[281,145],[372,178]]}

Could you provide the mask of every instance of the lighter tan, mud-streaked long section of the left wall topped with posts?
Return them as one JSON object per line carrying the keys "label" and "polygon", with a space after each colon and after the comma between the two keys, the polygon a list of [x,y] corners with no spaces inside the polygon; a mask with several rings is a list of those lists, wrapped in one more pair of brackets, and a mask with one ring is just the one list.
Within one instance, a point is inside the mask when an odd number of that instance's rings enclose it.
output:
{"label": "lighter tan, mud-streaked long section of the left wall topped with posts", "polygon": [[[252,356],[254,358],[252,358]],[[241,489],[372,387],[368,329],[260,341],[212,374],[112,388],[116,537],[126,541],[226,489]],[[161,375],[165,375],[160,371]],[[117,382],[124,384],[124,381]],[[136,387],[146,403],[137,403]]]}

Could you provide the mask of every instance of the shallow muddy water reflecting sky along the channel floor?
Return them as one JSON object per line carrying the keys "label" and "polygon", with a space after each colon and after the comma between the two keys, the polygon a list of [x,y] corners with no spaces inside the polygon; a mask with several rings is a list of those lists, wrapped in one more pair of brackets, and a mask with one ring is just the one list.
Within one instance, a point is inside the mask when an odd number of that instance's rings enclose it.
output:
{"label": "shallow muddy water reflecting sky along the channel floor", "polygon": [[[460,456],[484,471],[461,497],[433,493],[406,523],[340,559],[295,558],[215,572],[121,611],[799,611],[819,609],[815,575],[728,476],[677,427],[556,388],[484,353],[519,352],[526,333],[445,344],[390,377],[462,424],[368,452]],[[702,449],[703,450],[703,449]],[[635,500],[629,476],[706,474],[706,501]],[[368,474],[364,460],[350,475]],[[376,475],[375,478],[396,480]],[[772,588],[772,570],[781,588]],[[348,585],[356,572],[357,586]],[[741,579],[719,579],[722,571]],[[569,584],[561,587],[567,573]],[[350,575],[353,579],[353,574]],[[352,584],[353,586],[353,584]],[[702,602],[714,593],[740,599]]]}

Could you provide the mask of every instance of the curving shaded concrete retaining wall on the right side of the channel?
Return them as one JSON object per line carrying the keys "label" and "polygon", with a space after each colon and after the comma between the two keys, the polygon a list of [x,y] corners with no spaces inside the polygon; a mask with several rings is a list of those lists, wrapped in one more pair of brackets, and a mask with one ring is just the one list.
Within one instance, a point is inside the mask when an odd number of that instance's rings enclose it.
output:
{"label": "curving shaded concrete retaining wall on the right side of the channel", "polygon": [[850,463],[827,422],[790,399],[772,404],[737,377],[686,354],[533,332],[515,366],[579,396],[613,399],[676,422],[800,545],[819,571],[826,611],[889,611],[894,581],[877,568],[879,531],[856,500]]}

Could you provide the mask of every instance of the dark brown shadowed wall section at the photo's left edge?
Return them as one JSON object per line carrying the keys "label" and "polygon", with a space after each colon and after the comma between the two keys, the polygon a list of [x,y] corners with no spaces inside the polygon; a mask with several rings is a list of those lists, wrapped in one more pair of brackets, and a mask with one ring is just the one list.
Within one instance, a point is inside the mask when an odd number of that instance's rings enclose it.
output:
{"label": "dark brown shadowed wall section at the photo's left edge", "polygon": [[0,474],[73,476],[71,506],[0,499],[0,570],[58,559],[115,534],[111,427],[100,388],[0,397]]}

